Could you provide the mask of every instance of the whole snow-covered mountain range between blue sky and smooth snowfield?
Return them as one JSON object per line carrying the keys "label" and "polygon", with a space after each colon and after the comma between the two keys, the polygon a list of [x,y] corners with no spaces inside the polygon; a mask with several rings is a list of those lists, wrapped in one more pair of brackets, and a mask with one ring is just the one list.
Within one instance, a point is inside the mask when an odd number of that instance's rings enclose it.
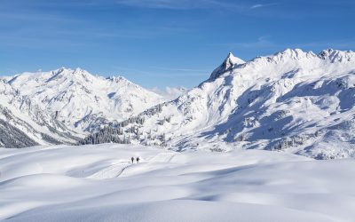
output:
{"label": "whole snow-covered mountain range between blue sky and smooth snowfield", "polygon": [[80,68],[24,73],[0,82],[0,147],[92,143],[101,135],[179,151],[354,157],[354,76],[355,52],[331,49],[249,61],[230,53],[206,81],[169,101]]}

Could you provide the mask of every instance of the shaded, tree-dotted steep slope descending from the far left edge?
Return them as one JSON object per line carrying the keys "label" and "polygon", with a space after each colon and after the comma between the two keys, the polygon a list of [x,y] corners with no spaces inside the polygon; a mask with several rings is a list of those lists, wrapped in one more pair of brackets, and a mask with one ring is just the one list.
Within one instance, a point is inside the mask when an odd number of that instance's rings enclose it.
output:
{"label": "shaded, tree-dotted steep slope descending from the far left edge", "polygon": [[79,135],[67,129],[36,102],[0,80],[0,147],[75,144]]}

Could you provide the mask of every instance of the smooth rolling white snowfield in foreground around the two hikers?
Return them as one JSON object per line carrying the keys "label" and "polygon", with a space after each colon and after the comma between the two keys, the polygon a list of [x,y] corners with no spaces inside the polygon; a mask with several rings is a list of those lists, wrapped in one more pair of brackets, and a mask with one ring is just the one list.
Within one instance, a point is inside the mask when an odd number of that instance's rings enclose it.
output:
{"label": "smooth rolling white snowfield in foreground around the two hikers", "polygon": [[[130,163],[139,156],[140,163]],[[355,160],[103,144],[0,149],[6,221],[353,221]]]}

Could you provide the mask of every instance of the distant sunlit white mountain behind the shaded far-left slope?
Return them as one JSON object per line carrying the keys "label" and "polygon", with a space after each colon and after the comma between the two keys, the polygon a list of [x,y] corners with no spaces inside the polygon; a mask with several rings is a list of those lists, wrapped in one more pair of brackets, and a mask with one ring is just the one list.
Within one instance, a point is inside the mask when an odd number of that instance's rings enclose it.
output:
{"label": "distant sunlit white mountain behind the shaded far-left slope", "polygon": [[24,73],[8,83],[75,131],[95,131],[162,102],[123,77],[104,78],[81,68]]}

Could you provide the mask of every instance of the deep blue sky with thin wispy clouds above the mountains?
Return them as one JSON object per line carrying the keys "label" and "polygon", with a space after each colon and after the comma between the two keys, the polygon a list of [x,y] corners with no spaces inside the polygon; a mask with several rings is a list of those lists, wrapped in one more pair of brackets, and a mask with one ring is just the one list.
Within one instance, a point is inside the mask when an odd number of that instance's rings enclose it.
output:
{"label": "deep blue sky with thin wispy clouds above the mountains", "polygon": [[1,0],[0,75],[83,67],[193,87],[228,52],[355,49],[353,0]]}

